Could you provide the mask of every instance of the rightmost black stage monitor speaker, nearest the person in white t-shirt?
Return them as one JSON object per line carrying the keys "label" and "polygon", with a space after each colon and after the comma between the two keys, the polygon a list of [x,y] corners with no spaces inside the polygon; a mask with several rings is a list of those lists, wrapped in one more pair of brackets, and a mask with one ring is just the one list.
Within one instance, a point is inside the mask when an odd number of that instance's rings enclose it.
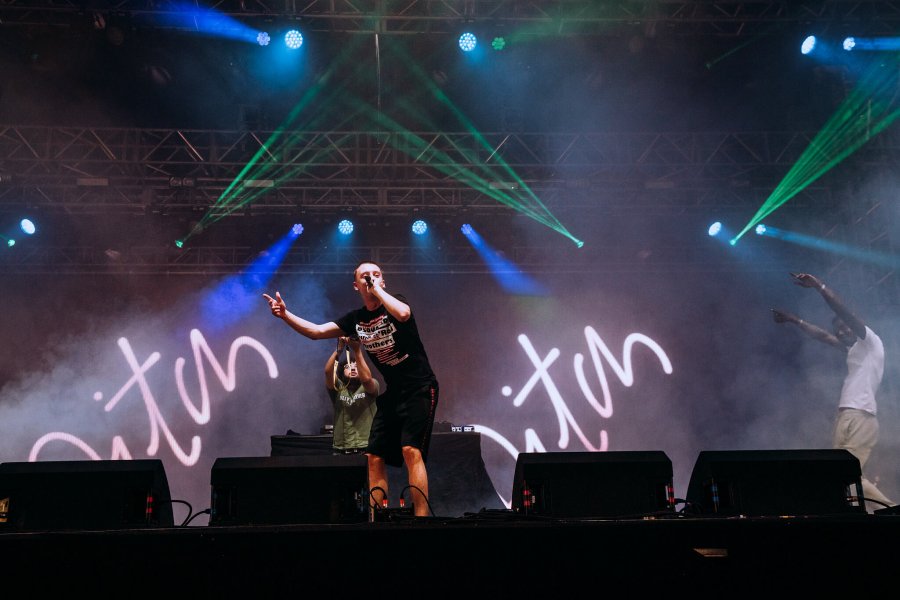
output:
{"label": "rightmost black stage monitor speaker, nearest the person in white t-shirt", "polygon": [[847,450],[704,451],[686,501],[708,516],[865,514],[861,478]]}

